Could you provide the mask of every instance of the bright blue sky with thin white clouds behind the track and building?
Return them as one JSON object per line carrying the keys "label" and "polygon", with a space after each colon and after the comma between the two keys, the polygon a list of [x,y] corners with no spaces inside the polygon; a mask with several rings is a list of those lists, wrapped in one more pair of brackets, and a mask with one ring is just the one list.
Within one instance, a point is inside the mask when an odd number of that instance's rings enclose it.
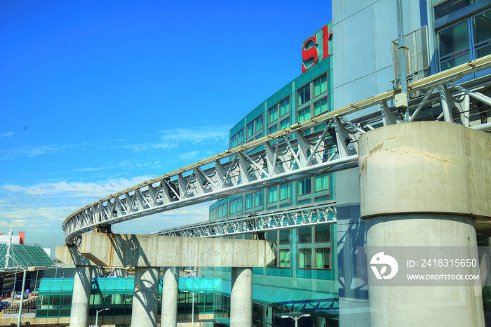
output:
{"label": "bright blue sky with thin white clouds behind the track and building", "polygon": [[[62,221],[227,149],[229,128],[301,70],[330,1],[0,1],[0,232]],[[144,234],[208,205],[114,225]]]}

